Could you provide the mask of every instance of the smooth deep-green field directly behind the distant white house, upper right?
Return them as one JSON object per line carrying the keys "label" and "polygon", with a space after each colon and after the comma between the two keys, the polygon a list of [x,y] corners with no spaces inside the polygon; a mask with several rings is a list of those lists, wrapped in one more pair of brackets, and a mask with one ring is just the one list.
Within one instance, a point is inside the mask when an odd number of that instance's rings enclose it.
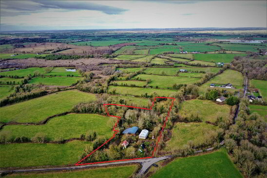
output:
{"label": "smooth deep-green field directly behind the distant white house, upper right", "polygon": [[193,59],[207,62],[230,63],[235,56],[246,56],[247,54],[193,54]]}

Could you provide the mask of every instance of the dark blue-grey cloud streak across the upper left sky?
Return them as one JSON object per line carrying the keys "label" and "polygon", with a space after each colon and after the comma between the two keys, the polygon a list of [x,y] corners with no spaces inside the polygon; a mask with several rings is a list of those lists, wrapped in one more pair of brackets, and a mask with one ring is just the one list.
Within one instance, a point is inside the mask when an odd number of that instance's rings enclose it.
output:
{"label": "dark blue-grey cloud streak across the upper left sky", "polygon": [[62,0],[32,0],[15,1],[1,0],[1,16],[28,15],[31,13],[44,12],[49,9],[57,10],[94,10],[108,15],[122,14],[127,9],[96,4],[89,1],[62,1]]}

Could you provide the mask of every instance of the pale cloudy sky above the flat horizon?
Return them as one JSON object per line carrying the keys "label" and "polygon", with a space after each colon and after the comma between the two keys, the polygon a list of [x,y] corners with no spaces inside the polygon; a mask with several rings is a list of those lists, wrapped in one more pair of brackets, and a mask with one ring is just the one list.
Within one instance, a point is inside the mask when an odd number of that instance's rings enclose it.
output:
{"label": "pale cloudy sky above the flat horizon", "polygon": [[0,0],[0,31],[267,27],[267,0]]}

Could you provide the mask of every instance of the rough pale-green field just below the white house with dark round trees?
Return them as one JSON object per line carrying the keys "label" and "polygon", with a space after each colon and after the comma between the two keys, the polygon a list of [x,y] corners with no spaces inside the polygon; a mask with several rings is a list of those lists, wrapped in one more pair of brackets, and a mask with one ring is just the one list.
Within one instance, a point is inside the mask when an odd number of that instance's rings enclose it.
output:
{"label": "rough pale-green field just below the white house with dark round trees", "polygon": [[210,100],[191,99],[182,103],[179,114],[182,117],[190,117],[191,114],[198,115],[203,121],[214,122],[218,116],[227,119],[231,106],[216,104]]}

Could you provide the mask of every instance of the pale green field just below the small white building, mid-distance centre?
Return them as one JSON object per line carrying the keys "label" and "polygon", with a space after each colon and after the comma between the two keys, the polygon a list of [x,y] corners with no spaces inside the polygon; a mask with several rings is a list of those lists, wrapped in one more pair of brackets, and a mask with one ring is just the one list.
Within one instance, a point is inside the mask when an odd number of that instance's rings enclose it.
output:
{"label": "pale green field just below the small white building, mid-distance centre", "polygon": [[134,76],[133,79],[151,79],[151,82],[148,84],[149,86],[159,88],[172,88],[174,84],[190,84],[195,83],[199,79],[196,78],[187,78],[187,77],[174,77],[174,76],[157,76],[157,75],[147,75],[147,74],[139,74],[137,76]]}

